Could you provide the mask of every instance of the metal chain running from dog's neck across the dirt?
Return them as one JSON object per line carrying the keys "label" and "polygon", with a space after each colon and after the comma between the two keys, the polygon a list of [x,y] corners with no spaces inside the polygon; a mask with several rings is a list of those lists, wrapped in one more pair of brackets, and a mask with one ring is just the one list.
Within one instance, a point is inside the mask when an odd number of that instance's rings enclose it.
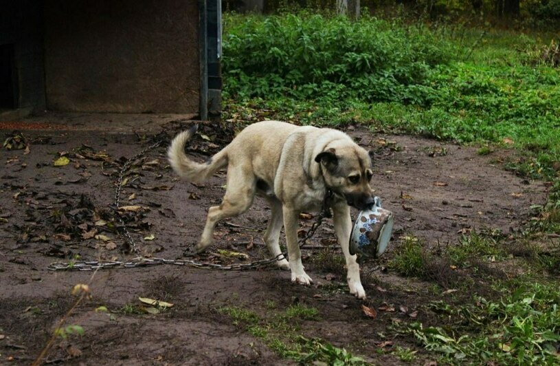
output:
{"label": "metal chain running from dog's neck across the dirt", "polygon": [[[120,226],[117,228],[120,230],[120,233],[126,239],[126,244],[128,248],[134,252],[136,255],[139,254],[138,247],[136,245],[136,241],[133,239],[131,233],[128,231],[126,227],[126,223],[124,219],[122,219],[119,213],[120,207],[120,193],[122,189],[122,182],[124,180],[124,175],[126,171],[130,169],[133,162],[137,159],[142,158],[148,151],[153,150],[159,145],[164,142],[163,139],[159,139],[153,144],[148,145],[139,151],[136,155],[132,158],[126,160],[124,164],[122,164],[121,169],[119,171],[119,175],[117,177],[116,188],[115,188],[115,200],[114,200],[114,211],[115,217],[119,222]],[[304,237],[300,239],[300,248],[305,246],[309,239],[313,237],[315,231],[319,226],[321,226],[323,219],[325,217],[331,217],[331,209],[328,208],[328,200],[332,197],[333,192],[329,189],[324,197],[323,207],[319,215],[317,215],[317,219],[311,225],[311,228],[307,230]],[[210,268],[210,269],[217,269],[217,270],[245,270],[249,268],[257,268],[260,266],[267,266],[271,263],[275,263],[276,261],[280,261],[284,258],[288,258],[287,252],[282,252],[276,257],[271,257],[269,259],[261,259],[258,261],[251,261],[249,263],[232,263],[229,265],[222,265],[216,263],[205,263],[200,261],[194,261],[192,259],[165,259],[165,258],[146,258],[146,257],[135,257],[129,261],[69,261],[69,262],[55,262],[49,264],[47,269],[53,271],[91,271],[91,270],[104,270],[109,268],[135,268],[135,267],[146,267],[146,266],[157,266],[160,264],[174,264],[176,266],[193,266],[197,268]]]}

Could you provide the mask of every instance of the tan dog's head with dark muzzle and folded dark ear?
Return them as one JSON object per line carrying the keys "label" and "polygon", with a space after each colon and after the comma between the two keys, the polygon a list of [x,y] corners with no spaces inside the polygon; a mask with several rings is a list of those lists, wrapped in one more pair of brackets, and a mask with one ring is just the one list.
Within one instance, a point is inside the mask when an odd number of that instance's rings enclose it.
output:
{"label": "tan dog's head with dark muzzle and folded dark ear", "polygon": [[350,206],[363,210],[374,204],[371,152],[357,144],[339,144],[317,154],[315,162],[322,166],[326,186]]}

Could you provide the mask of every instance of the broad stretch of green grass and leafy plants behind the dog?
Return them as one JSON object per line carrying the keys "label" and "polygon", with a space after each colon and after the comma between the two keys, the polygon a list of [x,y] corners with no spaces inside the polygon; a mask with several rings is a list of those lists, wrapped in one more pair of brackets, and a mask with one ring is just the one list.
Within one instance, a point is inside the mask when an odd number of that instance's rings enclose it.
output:
{"label": "broad stretch of green grass and leafy plants behind the dog", "polygon": [[225,118],[361,123],[461,143],[516,147],[511,169],[555,179],[560,161],[560,72],[550,39],[351,22],[303,12],[225,16]]}

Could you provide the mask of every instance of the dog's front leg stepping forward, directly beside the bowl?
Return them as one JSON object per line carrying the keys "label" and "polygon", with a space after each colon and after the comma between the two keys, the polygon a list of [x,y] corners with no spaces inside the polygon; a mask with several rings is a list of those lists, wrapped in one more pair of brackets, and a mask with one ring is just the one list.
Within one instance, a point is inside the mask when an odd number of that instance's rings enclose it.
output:
{"label": "dog's front leg stepping forward, directly beside the bowl", "polygon": [[350,288],[350,294],[353,294],[358,299],[366,299],[366,291],[363,290],[360,281],[360,268],[356,262],[356,255],[350,255],[348,245],[350,244],[350,231],[352,230],[352,219],[350,218],[350,207],[346,202],[337,204],[333,207],[335,224],[335,233],[337,233],[338,242],[344,253],[346,259],[346,268],[348,273],[346,280]]}

